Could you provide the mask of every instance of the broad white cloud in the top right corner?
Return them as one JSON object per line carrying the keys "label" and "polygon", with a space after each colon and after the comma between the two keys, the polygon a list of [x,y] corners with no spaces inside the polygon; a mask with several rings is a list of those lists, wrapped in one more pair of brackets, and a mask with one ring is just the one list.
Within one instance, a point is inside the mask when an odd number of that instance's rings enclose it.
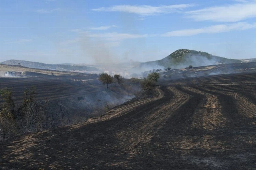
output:
{"label": "broad white cloud in the top right corner", "polygon": [[215,22],[237,22],[256,17],[256,2],[236,3],[228,6],[208,7],[186,12],[189,18],[196,21],[211,20]]}

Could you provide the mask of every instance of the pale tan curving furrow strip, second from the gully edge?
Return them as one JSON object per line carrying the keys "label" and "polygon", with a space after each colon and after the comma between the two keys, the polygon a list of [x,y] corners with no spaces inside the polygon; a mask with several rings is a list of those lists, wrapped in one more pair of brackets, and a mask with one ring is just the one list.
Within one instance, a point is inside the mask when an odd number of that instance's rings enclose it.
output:
{"label": "pale tan curving furrow strip, second from the gully edge", "polygon": [[154,134],[162,128],[168,117],[172,116],[189,99],[189,95],[174,87],[169,87],[168,90],[174,94],[170,100],[166,100],[153,110],[148,110],[147,113],[141,113],[145,116],[138,123],[116,134],[116,138],[122,138],[122,145],[130,155],[139,154],[141,151],[138,144],[150,141]]}

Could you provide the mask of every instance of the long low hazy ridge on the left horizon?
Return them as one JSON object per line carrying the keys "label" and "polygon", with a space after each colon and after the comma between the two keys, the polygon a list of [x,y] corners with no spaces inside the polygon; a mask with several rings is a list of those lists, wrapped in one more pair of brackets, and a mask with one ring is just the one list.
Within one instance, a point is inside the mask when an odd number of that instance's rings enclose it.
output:
{"label": "long low hazy ridge on the left horizon", "polygon": [[21,65],[29,68],[40,68],[40,69],[49,69],[49,70],[59,70],[59,71],[99,71],[95,67],[80,66],[80,65],[64,65],[64,64],[45,64],[39,62],[30,62],[24,60],[7,60],[2,62],[6,65]]}

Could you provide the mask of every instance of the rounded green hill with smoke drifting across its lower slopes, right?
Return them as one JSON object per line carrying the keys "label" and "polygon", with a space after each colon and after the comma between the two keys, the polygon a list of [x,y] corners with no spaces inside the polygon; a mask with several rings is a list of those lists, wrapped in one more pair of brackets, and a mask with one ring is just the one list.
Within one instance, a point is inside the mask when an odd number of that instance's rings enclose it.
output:
{"label": "rounded green hill with smoke drifting across its lower slopes, right", "polygon": [[140,67],[160,68],[185,68],[189,65],[193,67],[216,65],[216,64],[229,64],[229,63],[241,63],[240,60],[228,59],[224,57],[218,57],[207,52],[180,49],[176,50],[167,57],[152,61],[141,63]]}

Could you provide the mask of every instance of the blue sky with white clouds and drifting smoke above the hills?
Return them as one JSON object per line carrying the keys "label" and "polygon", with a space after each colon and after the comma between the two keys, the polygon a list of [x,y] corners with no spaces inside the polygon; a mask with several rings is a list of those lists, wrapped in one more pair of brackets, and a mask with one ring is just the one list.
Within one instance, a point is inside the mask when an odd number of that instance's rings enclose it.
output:
{"label": "blue sky with white clouds and drifting smoke above the hills", "polygon": [[0,62],[256,58],[256,0],[0,0]]}

